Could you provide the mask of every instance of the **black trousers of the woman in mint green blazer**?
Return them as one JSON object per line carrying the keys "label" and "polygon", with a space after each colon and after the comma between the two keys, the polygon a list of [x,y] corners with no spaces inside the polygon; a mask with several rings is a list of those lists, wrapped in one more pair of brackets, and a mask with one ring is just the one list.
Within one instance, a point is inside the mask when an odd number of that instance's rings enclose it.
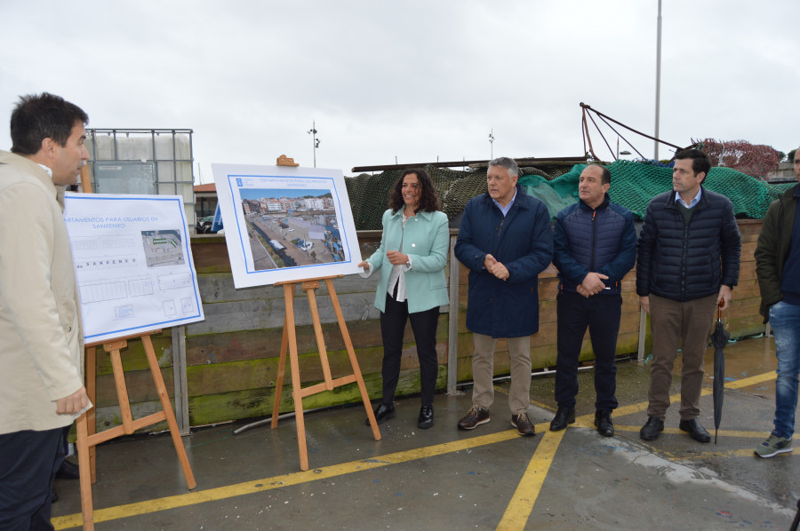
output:
{"label": "black trousers of the woman in mint green blazer", "polygon": [[420,360],[422,405],[432,406],[436,376],[439,372],[439,362],[436,359],[439,306],[424,312],[408,313],[408,303],[406,301],[398,303],[388,293],[386,311],[380,313],[380,334],[383,337],[383,403],[389,406],[395,400],[407,320],[412,323],[414,341],[417,344],[417,358]]}

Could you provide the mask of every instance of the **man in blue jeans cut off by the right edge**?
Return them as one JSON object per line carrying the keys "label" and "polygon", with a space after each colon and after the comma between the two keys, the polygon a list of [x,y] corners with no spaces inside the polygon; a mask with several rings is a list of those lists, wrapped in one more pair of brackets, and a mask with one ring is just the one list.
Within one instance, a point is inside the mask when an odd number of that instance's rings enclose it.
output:
{"label": "man in blue jeans cut off by the right edge", "polygon": [[[800,180],[800,150],[795,152]],[[800,372],[800,186],[787,190],[767,210],[756,246],[756,275],[761,314],[772,324],[778,379],[775,381],[775,429],[756,447],[756,456],[792,451]]]}

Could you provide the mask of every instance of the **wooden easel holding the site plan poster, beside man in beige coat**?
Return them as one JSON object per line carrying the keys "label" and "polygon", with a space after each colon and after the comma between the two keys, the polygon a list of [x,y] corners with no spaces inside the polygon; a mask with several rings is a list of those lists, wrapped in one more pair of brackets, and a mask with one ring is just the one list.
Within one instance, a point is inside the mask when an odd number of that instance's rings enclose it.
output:
{"label": "wooden easel holding the site plan poster, beside man in beige coat", "polygon": [[[81,170],[81,186],[84,193],[92,193],[92,183],[89,180],[89,172],[86,167]],[[192,468],[188,462],[186,448],[183,448],[183,440],[180,439],[180,430],[178,429],[178,421],[175,420],[175,412],[172,411],[172,403],[170,403],[169,394],[164,385],[164,377],[161,376],[161,369],[158,367],[158,360],[156,359],[156,351],[153,348],[153,341],[150,336],[158,334],[161,330],[152,330],[142,334],[134,334],[132,336],[118,337],[113,341],[92,343],[84,345],[85,347],[85,383],[86,394],[92,404],[95,403],[97,394],[97,386],[95,382],[95,362],[97,346],[103,345],[103,350],[111,356],[111,369],[114,373],[114,383],[116,384],[116,397],[119,400],[120,415],[123,419],[121,426],[110,428],[103,432],[97,433],[95,424],[94,407],[90,408],[83,415],[79,416],[76,421],[77,432],[77,453],[78,453],[78,470],[80,471],[80,487],[81,487],[81,510],[84,516],[84,531],[92,531],[94,529],[94,516],[92,509],[92,484],[97,481],[97,473],[95,470],[95,448],[102,442],[107,440],[116,439],[122,435],[130,435],[136,430],[151,426],[153,424],[166,421],[170,427],[172,434],[172,444],[175,445],[175,451],[178,453],[178,460],[180,467],[183,469],[183,475],[186,478],[186,483],[189,489],[195,488],[197,483],[195,475],[192,473]],[[128,388],[125,385],[124,369],[120,351],[128,346],[128,339],[141,338],[141,343],[144,345],[145,354],[148,358],[148,365],[150,373],[153,376],[153,382],[156,384],[156,391],[158,398],[161,400],[161,411],[152,415],[144,416],[142,418],[133,419],[131,413],[131,402],[128,400]]]}

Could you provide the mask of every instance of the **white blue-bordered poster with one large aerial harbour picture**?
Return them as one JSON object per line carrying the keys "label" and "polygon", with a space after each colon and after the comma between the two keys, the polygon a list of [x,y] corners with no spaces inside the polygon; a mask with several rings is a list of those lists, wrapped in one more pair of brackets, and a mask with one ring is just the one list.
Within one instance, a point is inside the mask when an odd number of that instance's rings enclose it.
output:
{"label": "white blue-bordered poster with one large aerial harbour picture", "polygon": [[340,170],[212,164],[236,288],[359,273]]}

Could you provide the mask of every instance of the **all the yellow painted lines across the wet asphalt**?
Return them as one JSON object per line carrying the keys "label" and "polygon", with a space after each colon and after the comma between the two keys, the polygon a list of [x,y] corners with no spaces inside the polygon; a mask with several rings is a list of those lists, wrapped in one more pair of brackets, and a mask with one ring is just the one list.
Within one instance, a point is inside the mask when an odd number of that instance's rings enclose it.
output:
{"label": "all the yellow painted lines across the wet asphalt", "polygon": [[[734,382],[726,382],[726,389],[740,389],[749,385],[761,384],[777,377],[775,371],[764,373],[763,375],[750,376]],[[711,393],[710,389],[704,389],[702,396],[707,396]],[[670,397],[670,400],[677,400],[680,398],[679,394]],[[617,408],[615,416],[625,416],[638,413],[647,408],[647,402],[640,402],[630,406]],[[580,416],[576,419],[576,423],[570,427],[581,427],[594,429],[594,414]],[[639,426],[615,426],[618,431],[637,432]],[[505,513],[503,514],[499,529],[523,529],[527,523],[528,518],[533,510],[533,504],[536,503],[544,479],[547,477],[550,465],[556,456],[556,451],[564,439],[564,433],[549,432],[549,422],[536,424],[537,432],[542,433],[541,438],[537,438],[539,444],[533,452],[530,463],[524,472],[523,478],[520,480],[514,495],[508,503]],[[666,433],[684,433],[676,428],[665,428]],[[721,434],[726,434],[733,437],[751,437],[761,438],[764,437],[764,432],[730,432],[724,431]],[[362,461],[351,461],[349,463],[335,464],[332,466],[317,468],[306,472],[293,472],[272,478],[256,479],[252,481],[245,481],[234,485],[225,487],[210,488],[207,490],[200,490],[190,492],[184,495],[166,496],[163,498],[156,498],[153,500],[146,500],[144,502],[127,503],[124,505],[117,505],[116,507],[108,507],[106,509],[99,509],[94,511],[94,521],[96,523],[124,519],[131,516],[148,514],[158,511],[166,511],[169,509],[176,509],[179,507],[187,507],[196,505],[197,503],[215,502],[224,500],[231,497],[240,495],[249,495],[275,488],[288,487],[298,485],[300,483],[310,483],[318,479],[330,479],[337,476],[342,476],[354,472],[363,472],[389,464],[401,464],[422,459],[425,457],[444,456],[452,452],[458,452],[469,448],[477,448],[485,445],[495,444],[506,440],[513,440],[518,438],[519,435],[516,430],[506,430],[498,433],[491,433],[489,435],[481,435],[463,440],[454,440],[445,442],[429,447],[414,448],[403,452],[396,452],[386,456],[376,456]],[[702,456],[752,456],[752,450],[731,450],[723,452],[709,452],[708,454],[701,454]],[[666,452],[660,451],[662,454]],[[691,456],[697,458],[698,455]],[[669,458],[677,460],[689,457],[669,456]],[[81,527],[82,519],[80,513],[65,515],[53,518],[52,525],[56,529],[69,529],[73,527]]]}

